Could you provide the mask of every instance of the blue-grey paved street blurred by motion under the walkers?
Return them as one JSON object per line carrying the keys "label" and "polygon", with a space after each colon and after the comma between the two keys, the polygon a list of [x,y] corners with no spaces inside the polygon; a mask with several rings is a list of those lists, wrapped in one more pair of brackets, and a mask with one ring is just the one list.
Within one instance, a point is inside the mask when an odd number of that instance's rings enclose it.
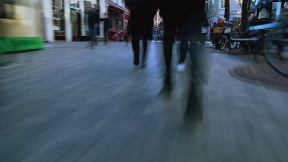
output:
{"label": "blue-grey paved street blurred by motion under the walkers", "polygon": [[177,48],[167,96],[162,42],[149,42],[146,69],[130,44],[86,45],[0,56],[10,62],[0,68],[0,162],[288,162],[286,87],[229,75],[252,60],[200,49],[207,84],[195,120]]}

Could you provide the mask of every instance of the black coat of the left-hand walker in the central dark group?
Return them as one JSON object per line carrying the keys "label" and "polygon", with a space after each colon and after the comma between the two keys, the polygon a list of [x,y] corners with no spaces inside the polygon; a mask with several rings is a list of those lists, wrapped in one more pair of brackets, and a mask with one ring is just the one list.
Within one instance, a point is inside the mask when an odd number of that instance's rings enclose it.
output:
{"label": "black coat of the left-hand walker in the central dark group", "polygon": [[126,0],[131,19],[129,30],[133,35],[150,36],[153,18],[157,11],[157,0]]}

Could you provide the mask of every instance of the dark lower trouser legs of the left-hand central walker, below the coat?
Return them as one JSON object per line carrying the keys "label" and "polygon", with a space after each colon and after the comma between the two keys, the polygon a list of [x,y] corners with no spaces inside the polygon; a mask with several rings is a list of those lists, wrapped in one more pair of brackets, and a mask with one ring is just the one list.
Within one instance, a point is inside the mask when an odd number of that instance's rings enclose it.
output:
{"label": "dark lower trouser legs of the left-hand central walker, below the coat", "polygon": [[[140,39],[141,35],[132,35],[132,48],[134,51],[134,59],[137,63],[139,63],[139,58],[140,58]],[[147,51],[147,40],[148,36],[143,36],[142,41],[143,41],[143,48],[144,48],[144,53],[143,53],[143,62],[145,62],[146,59],[146,51]]]}

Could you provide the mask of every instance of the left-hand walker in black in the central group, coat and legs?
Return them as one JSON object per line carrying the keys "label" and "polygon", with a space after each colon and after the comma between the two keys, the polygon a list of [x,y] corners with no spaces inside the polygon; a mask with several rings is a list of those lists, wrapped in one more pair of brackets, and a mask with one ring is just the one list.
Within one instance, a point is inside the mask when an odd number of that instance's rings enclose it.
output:
{"label": "left-hand walker in black in the central group, coat and legs", "polygon": [[157,11],[157,0],[126,0],[126,4],[131,12],[129,28],[131,29],[132,48],[134,51],[133,64],[138,66],[140,63],[139,43],[142,38],[144,47],[142,67],[145,67],[147,40],[152,35],[153,18]]}

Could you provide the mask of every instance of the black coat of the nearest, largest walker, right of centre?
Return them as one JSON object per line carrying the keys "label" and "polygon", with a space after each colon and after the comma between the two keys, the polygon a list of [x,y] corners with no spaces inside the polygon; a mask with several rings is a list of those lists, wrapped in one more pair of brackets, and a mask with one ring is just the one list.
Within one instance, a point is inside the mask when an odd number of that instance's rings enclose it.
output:
{"label": "black coat of the nearest, largest walker, right of centre", "polygon": [[[197,4],[197,5],[196,5]],[[205,1],[195,3],[195,0],[158,0],[160,15],[164,23],[174,23],[179,27],[181,35],[201,33],[201,26],[209,26],[205,13]]]}

